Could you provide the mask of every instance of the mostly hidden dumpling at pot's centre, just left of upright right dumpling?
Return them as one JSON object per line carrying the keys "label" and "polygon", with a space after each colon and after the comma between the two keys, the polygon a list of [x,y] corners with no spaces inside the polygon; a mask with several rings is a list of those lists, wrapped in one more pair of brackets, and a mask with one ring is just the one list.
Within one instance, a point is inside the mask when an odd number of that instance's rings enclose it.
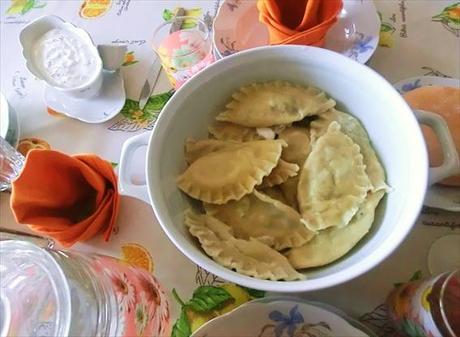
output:
{"label": "mostly hidden dumpling at pot's centre, just left of upright right dumpling", "polygon": [[279,139],[287,143],[281,153],[281,159],[303,166],[310,153],[310,131],[303,127],[286,128],[279,134]]}

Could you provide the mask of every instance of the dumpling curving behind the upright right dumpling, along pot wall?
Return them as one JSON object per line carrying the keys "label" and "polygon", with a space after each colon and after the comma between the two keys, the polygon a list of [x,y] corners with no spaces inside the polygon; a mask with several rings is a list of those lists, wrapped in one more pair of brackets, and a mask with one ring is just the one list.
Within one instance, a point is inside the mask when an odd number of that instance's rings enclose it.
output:
{"label": "dumpling curving behind the upright right dumpling, along pot wall", "polygon": [[381,189],[388,191],[390,188],[385,183],[385,171],[372,148],[366,130],[358,119],[337,109],[331,109],[311,122],[312,140],[323,135],[332,121],[339,123],[342,132],[359,145],[364,165],[366,165],[366,173],[372,184],[372,190],[374,192]]}

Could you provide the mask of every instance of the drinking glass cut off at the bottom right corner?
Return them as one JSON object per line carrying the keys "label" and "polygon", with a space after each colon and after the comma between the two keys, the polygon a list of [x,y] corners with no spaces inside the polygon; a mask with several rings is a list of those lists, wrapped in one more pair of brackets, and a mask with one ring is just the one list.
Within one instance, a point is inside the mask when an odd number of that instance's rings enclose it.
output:
{"label": "drinking glass cut off at the bottom right corner", "polygon": [[398,330],[407,336],[460,336],[460,270],[396,287],[387,298]]}

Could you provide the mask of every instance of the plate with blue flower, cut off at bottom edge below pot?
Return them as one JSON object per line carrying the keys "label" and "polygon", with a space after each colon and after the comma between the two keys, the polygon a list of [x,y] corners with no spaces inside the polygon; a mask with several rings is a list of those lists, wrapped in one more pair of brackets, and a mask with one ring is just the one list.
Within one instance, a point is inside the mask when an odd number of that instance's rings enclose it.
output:
{"label": "plate with blue flower, cut off at bottom edge below pot", "polygon": [[198,329],[192,337],[368,336],[339,315],[297,298],[248,302]]}

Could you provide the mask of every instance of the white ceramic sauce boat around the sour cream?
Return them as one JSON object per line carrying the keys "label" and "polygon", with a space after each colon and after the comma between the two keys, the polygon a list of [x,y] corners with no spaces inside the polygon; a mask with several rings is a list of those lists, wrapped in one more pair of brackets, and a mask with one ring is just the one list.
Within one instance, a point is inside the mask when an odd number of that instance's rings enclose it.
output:
{"label": "white ceramic sauce boat around the sour cream", "polygon": [[[91,56],[95,59],[96,65],[90,74],[89,79],[84,83],[72,87],[57,85],[55,82],[47,78],[43,71],[40,70],[35,56],[35,44],[40,37],[52,29],[62,29],[67,31],[88,47]],[[27,69],[34,76],[46,82],[46,84],[51,88],[74,98],[90,98],[99,93],[103,79],[102,60],[98,54],[97,48],[91,40],[91,37],[85,30],[75,27],[58,16],[47,15],[33,20],[26,25],[19,34],[19,40],[22,45],[22,54],[26,59]]]}

